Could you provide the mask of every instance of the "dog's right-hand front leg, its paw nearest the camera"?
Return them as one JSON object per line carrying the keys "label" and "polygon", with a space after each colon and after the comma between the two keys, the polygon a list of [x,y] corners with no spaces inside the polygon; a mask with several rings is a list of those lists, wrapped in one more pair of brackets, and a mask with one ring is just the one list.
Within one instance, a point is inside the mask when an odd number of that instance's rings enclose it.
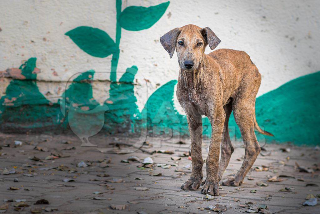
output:
{"label": "dog's right-hand front leg, its paw nearest the camera", "polygon": [[219,195],[219,155],[225,118],[226,114],[222,105],[214,108],[214,111],[209,116],[212,131],[209,154],[206,159],[207,178],[201,189],[201,193],[203,194]]}

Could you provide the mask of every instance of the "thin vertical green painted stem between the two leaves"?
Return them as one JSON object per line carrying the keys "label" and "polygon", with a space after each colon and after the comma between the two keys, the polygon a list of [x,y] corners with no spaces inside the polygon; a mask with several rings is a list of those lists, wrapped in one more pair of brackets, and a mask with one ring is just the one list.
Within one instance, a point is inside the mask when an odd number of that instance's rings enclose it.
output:
{"label": "thin vertical green painted stem between the two leaves", "polygon": [[111,59],[111,73],[110,73],[110,81],[111,82],[116,82],[117,80],[117,66],[118,66],[118,61],[119,61],[119,56],[120,56],[120,38],[121,38],[121,26],[119,17],[121,15],[121,2],[122,0],[116,0],[116,51],[112,55]]}

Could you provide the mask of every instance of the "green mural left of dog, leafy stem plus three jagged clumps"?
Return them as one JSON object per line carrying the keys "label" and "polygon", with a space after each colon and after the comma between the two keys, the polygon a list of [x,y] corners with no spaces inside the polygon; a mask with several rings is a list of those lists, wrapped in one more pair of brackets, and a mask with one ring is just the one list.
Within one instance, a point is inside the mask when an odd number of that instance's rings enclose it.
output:
{"label": "green mural left of dog, leafy stem plus three jagged clumps", "polygon": [[[36,85],[36,58],[20,66],[20,79],[10,82],[6,95],[0,100],[1,130],[64,131],[71,128],[83,141],[103,127],[109,133],[130,130],[141,124],[141,113],[136,105],[133,80],[138,72],[132,66],[117,81],[116,71],[120,56],[121,29],[144,30],[154,25],[164,14],[170,2],[151,7],[130,6],[121,11],[122,1],[116,0],[116,39],[107,32],[89,26],[79,26],[65,35],[84,52],[105,58],[112,54],[110,69],[110,97],[103,105],[92,96],[91,81],[94,71],[76,77],[63,93],[58,103],[51,103]],[[48,129],[47,129],[48,128]],[[94,131],[92,131],[94,130]],[[83,141],[85,143],[85,141]]]}

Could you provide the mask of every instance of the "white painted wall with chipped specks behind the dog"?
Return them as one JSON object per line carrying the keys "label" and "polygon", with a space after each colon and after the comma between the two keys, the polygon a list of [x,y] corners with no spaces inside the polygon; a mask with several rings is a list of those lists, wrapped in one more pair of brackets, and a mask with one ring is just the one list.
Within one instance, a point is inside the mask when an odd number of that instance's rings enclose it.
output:
{"label": "white painted wall with chipped specks behind the dog", "polygon": [[[162,2],[165,1],[124,0],[122,9]],[[50,81],[38,83],[39,90],[52,101],[58,96],[60,81],[68,80],[66,73],[93,69],[99,72],[95,80],[108,79],[111,56],[90,56],[64,33],[78,26],[91,26],[105,30],[115,39],[115,1],[0,0],[0,8],[0,70],[19,67],[23,60],[37,57],[37,67],[41,69],[37,79]],[[122,29],[118,71],[138,66],[138,73],[150,81],[148,96],[159,87],[157,84],[177,79],[176,54],[170,59],[159,38],[175,27],[192,23],[210,27],[222,41],[217,48],[244,50],[251,56],[262,74],[259,96],[320,70],[319,8],[317,0],[172,0],[164,16],[151,28]],[[208,47],[206,53],[210,51]],[[141,110],[147,101],[147,87],[142,77],[137,78],[141,86],[135,88],[135,93]],[[7,86],[2,83],[0,92]],[[108,85],[95,84],[94,97],[104,101]],[[51,95],[46,95],[48,91]]]}

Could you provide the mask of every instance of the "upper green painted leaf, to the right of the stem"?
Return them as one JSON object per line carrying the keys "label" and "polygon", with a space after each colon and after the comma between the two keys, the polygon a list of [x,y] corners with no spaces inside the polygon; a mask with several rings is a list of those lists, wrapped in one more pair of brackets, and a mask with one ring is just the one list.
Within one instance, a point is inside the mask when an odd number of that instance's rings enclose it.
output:
{"label": "upper green painted leaf, to the right of the stem", "polygon": [[161,18],[169,4],[168,1],[151,7],[130,6],[124,9],[118,21],[125,30],[148,29]]}

